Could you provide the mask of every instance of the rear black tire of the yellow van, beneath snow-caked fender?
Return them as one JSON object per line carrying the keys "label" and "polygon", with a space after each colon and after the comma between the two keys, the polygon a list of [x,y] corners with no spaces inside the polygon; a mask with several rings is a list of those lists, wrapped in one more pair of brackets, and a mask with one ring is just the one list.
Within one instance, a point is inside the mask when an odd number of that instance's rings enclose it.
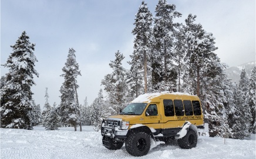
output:
{"label": "rear black tire of the yellow van, beneath snow-caked fender", "polygon": [[197,133],[194,130],[188,129],[186,136],[178,139],[178,146],[185,149],[196,147]]}

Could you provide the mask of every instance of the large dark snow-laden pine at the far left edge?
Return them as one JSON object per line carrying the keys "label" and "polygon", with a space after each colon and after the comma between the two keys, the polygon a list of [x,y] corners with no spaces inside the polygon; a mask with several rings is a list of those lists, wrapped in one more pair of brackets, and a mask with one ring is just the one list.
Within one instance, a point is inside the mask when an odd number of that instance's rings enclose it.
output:
{"label": "large dark snow-laden pine at the far left edge", "polygon": [[[31,87],[35,85],[33,75],[36,59],[33,51],[35,44],[29,42],[29,36],[22,32],[8,57],[4,67],[9,68],[5,75],[5,85],[1,88],[1,127],[33,129],[33,99]],[[2,101],[3,99],[3,101]]]}

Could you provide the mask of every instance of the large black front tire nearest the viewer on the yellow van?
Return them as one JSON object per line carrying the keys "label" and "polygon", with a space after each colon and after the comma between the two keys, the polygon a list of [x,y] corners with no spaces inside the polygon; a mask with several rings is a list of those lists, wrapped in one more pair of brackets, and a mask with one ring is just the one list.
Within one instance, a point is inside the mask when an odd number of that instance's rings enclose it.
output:
{"label": "large black front tire nearest the viewer on the yellow van", "polygon": [[126,139],[126,151],[133,156],[142,156],[149,153],[151,146],[150,136],[147,133],[130,133]]}

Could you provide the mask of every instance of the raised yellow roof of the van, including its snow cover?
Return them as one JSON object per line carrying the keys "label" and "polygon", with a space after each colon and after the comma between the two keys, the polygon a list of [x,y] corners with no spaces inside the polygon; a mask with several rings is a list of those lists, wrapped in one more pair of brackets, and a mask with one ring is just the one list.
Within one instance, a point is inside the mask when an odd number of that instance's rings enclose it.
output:
{"label": "raised yellow roof of the van, including its snow cover", "polygon": [[158,92],[140,95],[135,98],[132,103],[160,102],[160,99],[199,100],[198,96],[196,95],[184,94],[181,92]]}

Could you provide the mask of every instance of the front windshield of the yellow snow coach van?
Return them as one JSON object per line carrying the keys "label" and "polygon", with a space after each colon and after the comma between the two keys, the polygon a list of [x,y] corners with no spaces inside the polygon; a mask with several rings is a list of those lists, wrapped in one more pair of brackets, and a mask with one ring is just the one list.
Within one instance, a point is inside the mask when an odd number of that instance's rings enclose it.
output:
{"label": "front windshield of the yellow snow coach van", "polygon": [[142,115],[147,103],[130,103],[120,113],[122,115]]}

